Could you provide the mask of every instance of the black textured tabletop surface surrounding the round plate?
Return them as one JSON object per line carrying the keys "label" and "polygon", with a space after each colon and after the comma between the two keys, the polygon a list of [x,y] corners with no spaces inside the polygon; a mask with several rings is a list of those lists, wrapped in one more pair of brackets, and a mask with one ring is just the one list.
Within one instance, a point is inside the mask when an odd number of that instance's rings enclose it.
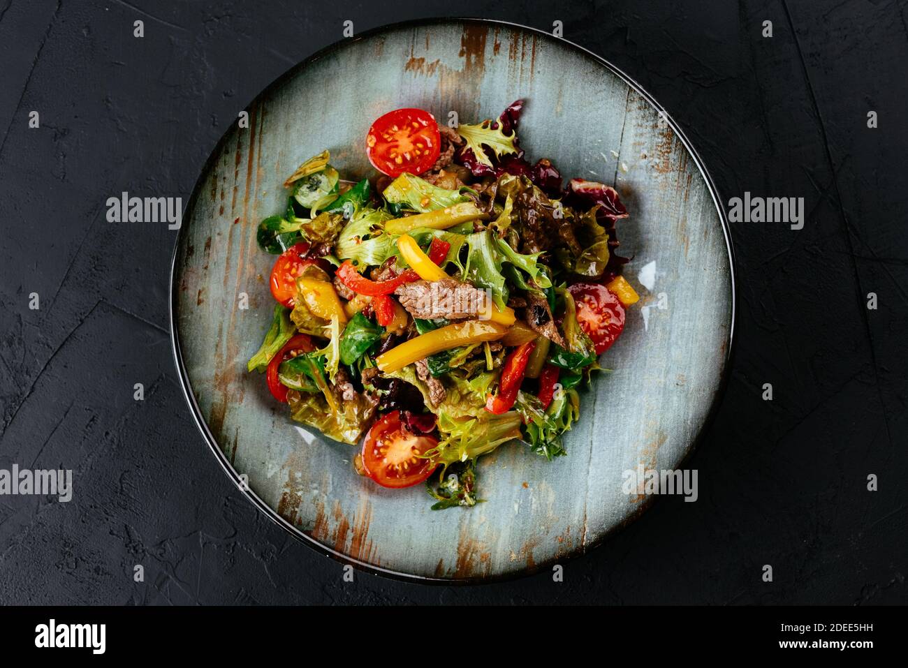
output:
{"label": "black textured tabletop surface surrounding the round plate", "polygon": [[[73,468],[75,486],[69,504],[0,496],[0,603],[906,602],[906,12],[885,0],[0,0],[0,467]],[[806,200],[802,231],[733,226],[735,359],[690,462],[699,501],[660,500],[568,562],[563,584],[343,583],[341,565],[241,496],[192,424],[167,330],[175,232],[104,217],[122,191],[186,201],[237,112],[341,39],[344,20],[361,31],[452,14],[563,21],[665,105],[725,201]]]}

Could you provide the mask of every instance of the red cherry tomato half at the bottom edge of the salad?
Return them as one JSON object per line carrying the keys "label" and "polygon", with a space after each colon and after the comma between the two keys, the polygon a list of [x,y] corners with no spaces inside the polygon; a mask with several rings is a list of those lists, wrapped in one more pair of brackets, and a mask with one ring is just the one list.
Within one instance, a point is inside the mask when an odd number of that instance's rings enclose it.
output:
{"label": "red cherry tomato half at the bottom edge of the salad", "polygon": [[400,411],[394,410],[372,425],[362,443],[365,474],[383,487],[419,485],[438,466],[419,455],[439,445],[438,439],[404,431]]}

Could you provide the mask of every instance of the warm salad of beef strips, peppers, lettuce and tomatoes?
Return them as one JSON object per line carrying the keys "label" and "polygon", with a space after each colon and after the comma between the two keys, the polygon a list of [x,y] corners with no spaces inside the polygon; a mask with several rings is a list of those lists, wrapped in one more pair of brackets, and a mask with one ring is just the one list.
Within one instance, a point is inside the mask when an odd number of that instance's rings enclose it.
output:
{"label": "warm salad of beef strips, peppers, lettuce and tomatoes", "polygon": [[249,369],[294,420],[361,442],[360,474],[426,482],[433,508],[473,506],[477,459],[503,443],[565,454],[577,388],[637,301],[616,190],[528,162],[522,107],[453,129],[387,113],[365,142],[378,174],[346,181],[321,152],[257,231],[277,304]]}

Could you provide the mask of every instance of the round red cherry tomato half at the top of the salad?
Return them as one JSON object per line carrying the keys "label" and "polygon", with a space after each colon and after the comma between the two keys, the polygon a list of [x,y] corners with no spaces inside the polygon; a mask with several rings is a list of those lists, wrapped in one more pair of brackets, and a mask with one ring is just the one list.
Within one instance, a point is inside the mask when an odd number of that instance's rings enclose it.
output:
{"label": "round red cherry tomato half at the top of the salad", "polygon": [[435,117],[421,109],[396,109],[380,116],[366,135],[369,162],[383,174],[421,174],[439,159],[441,138]]}

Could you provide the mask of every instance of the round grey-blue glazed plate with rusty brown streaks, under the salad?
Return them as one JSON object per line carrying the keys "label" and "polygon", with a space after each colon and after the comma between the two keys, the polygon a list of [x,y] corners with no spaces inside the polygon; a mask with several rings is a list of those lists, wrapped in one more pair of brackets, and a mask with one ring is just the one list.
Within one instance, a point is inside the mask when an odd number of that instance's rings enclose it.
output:
{"label": "round grey-blue glazed plate with rusty brown streaks, under the salad", "polygon": [[[441,120],[498,115],[527,100],[520,142],[566,177],[614,184],[626,276],[642,299],[582,395],[568,457],[515,443],[481,461],[485,503],[429,510],[422,486],[357,476],[354,448],[291,422],[246,360],[271,322],[273,256],[255,228],[281,211],[281,183],[328,148],[348,178],[370,172],[373,119],[421,107]],[[238,485],[311,545],[389,575],[457,580],[517,575],[585,552],[652,497],[623,472],[676,467],[722,385],[734,320],[731,251],[712,184],[674,123],[593,54],[535,30],[478,20],[392,25],[294,67],[248,107],[196,183],[173,263],[172,331],[186,397]],[[243,309],[248,296],[248,309]]]}

